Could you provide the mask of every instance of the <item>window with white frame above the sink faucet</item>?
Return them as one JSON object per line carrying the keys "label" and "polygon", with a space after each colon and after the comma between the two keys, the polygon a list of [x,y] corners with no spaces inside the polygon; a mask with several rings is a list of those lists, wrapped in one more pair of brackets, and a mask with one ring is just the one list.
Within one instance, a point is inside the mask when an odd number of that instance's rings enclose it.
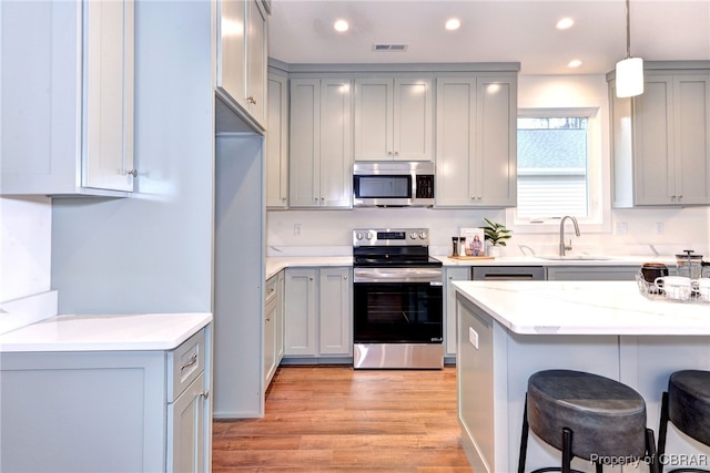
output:
{"label": "window with white frame above the sink faucet", "polygon": [[549,232],[565,215],[604,224],[598,122],[596,109],[518,111],[518,204],[510,210],[518,230]]}

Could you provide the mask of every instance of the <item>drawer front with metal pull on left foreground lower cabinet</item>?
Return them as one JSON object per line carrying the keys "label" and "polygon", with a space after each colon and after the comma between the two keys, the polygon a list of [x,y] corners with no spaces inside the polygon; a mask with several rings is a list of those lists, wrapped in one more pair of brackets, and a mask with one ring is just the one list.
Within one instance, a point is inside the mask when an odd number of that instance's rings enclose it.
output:
{"label": "drawer front with metal pull on left foreground lower cabinet", "polygon": [[204,371],[204,329],[168,352],[168,402],[175,400]]}

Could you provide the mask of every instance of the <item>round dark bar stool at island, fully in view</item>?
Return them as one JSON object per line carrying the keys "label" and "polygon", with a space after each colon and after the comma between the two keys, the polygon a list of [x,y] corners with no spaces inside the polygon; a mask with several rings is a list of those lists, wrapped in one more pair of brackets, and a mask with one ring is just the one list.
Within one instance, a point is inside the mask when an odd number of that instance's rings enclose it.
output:
{"label": "round dark bar stool at island, fully in view", "polygon": [[638,459],[658,471],[653,431],[646,426],[646,402],[633,389],[598,374],[538,371],[528,379],[518,473],[525,472],[528,431],[562,452],[560,467],[536,473],[571,470],[575,456],[595,463],[620,464]]}

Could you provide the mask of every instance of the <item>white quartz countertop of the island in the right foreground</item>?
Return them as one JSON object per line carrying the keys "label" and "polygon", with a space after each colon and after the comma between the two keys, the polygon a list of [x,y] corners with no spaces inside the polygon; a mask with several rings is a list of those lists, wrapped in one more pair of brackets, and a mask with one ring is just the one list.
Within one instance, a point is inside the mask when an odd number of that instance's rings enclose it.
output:
{"label": "white quartz countertop of the island in the right foreground", "polygon": [[651,300],[636,281],[454,281],[521,335],[710,335],[710,304]]}

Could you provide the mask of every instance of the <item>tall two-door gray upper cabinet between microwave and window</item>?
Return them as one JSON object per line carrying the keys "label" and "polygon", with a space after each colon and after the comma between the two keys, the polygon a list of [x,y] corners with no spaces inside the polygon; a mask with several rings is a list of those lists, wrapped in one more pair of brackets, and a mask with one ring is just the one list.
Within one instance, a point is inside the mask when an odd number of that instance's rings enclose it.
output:
{"label": "tall two-door gray upper cabinet between microwave and window", "polygon": [[436,110],[436,206],[515,206],[516,76],[438,78]]}

